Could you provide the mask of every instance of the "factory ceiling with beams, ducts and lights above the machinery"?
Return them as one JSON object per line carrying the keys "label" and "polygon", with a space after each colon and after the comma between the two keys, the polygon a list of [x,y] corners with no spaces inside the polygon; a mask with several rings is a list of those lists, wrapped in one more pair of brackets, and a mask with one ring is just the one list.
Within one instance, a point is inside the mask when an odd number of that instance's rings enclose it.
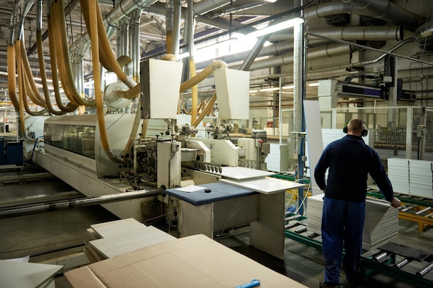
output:
{"label": "factory ceiling with beams, ducts and lights above the machinery", "polygon": [[[46,63],[46,74],[50,77],[50,56],[48,44],[48,4],[50,0],[4,0],[0,7],[0,85],[7,87],[7,46],[11,41],[17,39],[17,29],[12,30],[12,23],[19,22],[19,15],[26,3],[28,12],[22,19],[22,36],[28,60],[35,77],[40,76],[40,69],[37,57],[37,30],[38,6],[42,3],[42,40],[44,59]],[[57,2],[57,1],[56,1]],[[77,41],[86,33],[86,23],[82,16],[82,9],[79,0],[63,0],[65,12],[66,35],[69,50],[74,47]],[[260,25],[266,25],[272,21],[284,17],[301,15],[306,19],[308,28],[308,57],[319,59],[330,57],[333,53],[346,53],[350,55],[357,50],[364,50],[364,46],[371,48],[384,48],[389,41],[390,47],[402,43],[404,34],[409,33],[410,37],[416,35],[416,29],[427,23],[429,15],[432,15],[432,1],[387,1],[387,0],[100,0],[100,12],[104,17],[105,26],[111,21],[111,28],[114,27],[110,36],[111,48],[114,54],[119,57],[119,47],[116,42],[122,37],[122,22],[113,17],[123,17],[122,5],[125,3],[142,3],[141,12],[138,17],[140,27],[140,59],[160,57],[167,52],[167,8],[181,5],[181,23],[178,40],[182,52],[185,43],[185,17],[187,15],[187,4],[193,3],[194,17],[194,42],[200,44],[206,39],[216,38],[221,35],[231,35],[232,32],[251,32],[259,29]],[[414,3],[416,2],[416,3]],[[419,3],[418,3],[419,2]],[[113,10],[120,11],[113,13]],[[356,15],[353,18],[353,15]],[[123,18],[131,18],[131,15]],[[108,19],[108,20],[107,20]],[[370,28],[369,28],[370,27]],[[378,27],[383,27],[378,29]],[[427,27],[427,26],[426,26]],[[430,28],[429,28],[430,27]],[[431,26],[427,30],[432,30]],[[12,33],[13,31],[13,33]],[[119,32],[120,31],[120,32]],[[404,31],[404,32],[403,32]],[[293,32],[288,30],[282,33],[274,33],[268,38],[270,46],[257,51],[257,58],[249,70],[264,70],[259,76],[252,75],[261,80],[272,82],[272,76],[279,75],[279,66],[291,64],[290,52],[293,50]],[[334,40],[335,39],[335,40]],[[425,38],[423,48],[432,46],[430,38]],[[353,43],[354,45],[350,45]],[[421,49],[418,49],[421,50]],[[432,50],[432,47],[430,47]],[[83,55],[84,77],[91,75],[91,50],[87,49]],[[423,51],[429,52],[424,49]],[[406,55],[412,57],[414,53]],[[380,55],[380,53],[379,53]],[[224,61],[239,68],[248,57],[248,52],[239,55],[223,57]],[[320,62],[324,64],[325,62]],[[332,61],[331,61],[332,63]],[[197,69],[205,68],[207,64],[197,64]],[[320,66],[320,65],[319,65]],[[348,70],[350,65],[340,67]],[[317,69],[316,69],[317,70]],[[324,69],[326,71],[326,69]],[[326,73],[317,70],[316,74],[326,77]],[[270,76],[270,77],[269,77]],[[329,74],[329,77],[335,75]],[[311,76],[311,79],[319,76]],[[266,81],[261,81],[264,83]],[[268,82],[269,83],[269,82]],[[260,84],[262,85],[262,84]]]}

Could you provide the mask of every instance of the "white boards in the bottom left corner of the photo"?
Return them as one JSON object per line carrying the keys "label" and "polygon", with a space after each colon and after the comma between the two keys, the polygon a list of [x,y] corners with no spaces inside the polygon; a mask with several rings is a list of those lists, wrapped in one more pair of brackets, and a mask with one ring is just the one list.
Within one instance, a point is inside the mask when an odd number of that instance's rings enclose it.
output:
{"label": "white boards in the bottom left corner of the photo", "polygon": [[0,287],[54,288],[61,265],[0,260]]}

